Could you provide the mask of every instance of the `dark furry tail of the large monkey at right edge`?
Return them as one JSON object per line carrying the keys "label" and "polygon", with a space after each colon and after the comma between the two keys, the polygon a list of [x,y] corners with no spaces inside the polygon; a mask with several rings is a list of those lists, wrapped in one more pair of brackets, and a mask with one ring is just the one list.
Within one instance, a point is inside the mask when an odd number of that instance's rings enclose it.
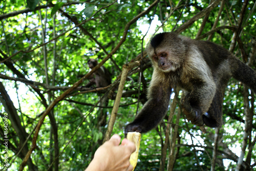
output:
{"label": "dark furry tail of the large monkey at right edge", "polygon": [[256,94],[256,71],[236,57],[234,57],[233,60],[234,61],[231,62],[232,64],[237,63],[237,66],[231,66],[233,78],[249,86],[254,94]]}

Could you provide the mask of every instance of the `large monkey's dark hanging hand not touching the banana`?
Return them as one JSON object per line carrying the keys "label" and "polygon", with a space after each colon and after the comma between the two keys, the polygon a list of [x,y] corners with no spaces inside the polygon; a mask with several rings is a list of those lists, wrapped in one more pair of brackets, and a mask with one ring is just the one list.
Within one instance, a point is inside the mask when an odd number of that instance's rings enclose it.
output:
{"label": "large monkey's dark hanging hand not touching the banana", "polygon": [[190,120],[192,124],[199,127],[204,125],[202,111],[200,109],[191,107],[186,96],[182,99],[181,107],[183,113],[186,115],[186,118]]}

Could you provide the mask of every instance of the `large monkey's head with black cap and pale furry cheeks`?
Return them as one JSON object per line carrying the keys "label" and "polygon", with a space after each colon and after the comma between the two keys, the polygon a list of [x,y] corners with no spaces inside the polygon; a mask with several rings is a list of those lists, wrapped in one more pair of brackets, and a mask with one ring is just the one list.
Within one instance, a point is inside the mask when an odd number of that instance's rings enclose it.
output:
{"label": "large monkey's head with black cap and pale furry cheeks", "polygon": [[181,67],[185,58],[186,46],[183,37],[175,33],[159,33],[147,44],[146,52],[153,67],[164,72]]}

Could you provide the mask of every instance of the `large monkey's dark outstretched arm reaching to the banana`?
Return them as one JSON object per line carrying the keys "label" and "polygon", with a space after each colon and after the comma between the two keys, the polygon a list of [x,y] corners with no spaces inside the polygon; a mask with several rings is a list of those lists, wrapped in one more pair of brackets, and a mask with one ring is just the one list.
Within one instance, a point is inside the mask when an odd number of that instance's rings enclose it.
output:
{"label": "large monkey's dark outstretched arm reaching to the banana", "polygon": [[[154,83],[153,80],[152,82]],[[125,134],[127,132],[144,133],[155,128],[168,110],[170,93],[172,88],[169,85],[166,87],[166,84],[160,82],[157,85],[151,85],[148,89],[148,101],[134,121],[125,127]]]}

